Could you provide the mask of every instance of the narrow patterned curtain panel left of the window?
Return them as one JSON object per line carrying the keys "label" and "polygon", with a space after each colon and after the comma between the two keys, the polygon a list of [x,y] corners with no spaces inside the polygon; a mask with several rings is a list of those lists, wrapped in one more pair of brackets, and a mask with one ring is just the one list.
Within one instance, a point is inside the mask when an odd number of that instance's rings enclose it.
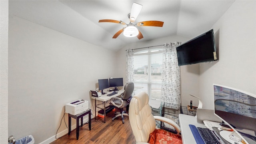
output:
{"label": "narrow patterned curtain panel left of the window", "polygon": [[132,49],[126,50],[126,83],[134,82],[134,52]]}

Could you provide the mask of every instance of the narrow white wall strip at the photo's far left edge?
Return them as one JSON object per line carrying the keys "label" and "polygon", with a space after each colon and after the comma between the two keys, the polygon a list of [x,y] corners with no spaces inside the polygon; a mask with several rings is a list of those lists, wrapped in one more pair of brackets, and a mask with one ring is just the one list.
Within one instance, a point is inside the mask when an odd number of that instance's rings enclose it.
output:
{"label": "narrow white wall strip at the photo's far left edge", "polygon": [[0,144],[8,141],[8,0],[0,0]]}

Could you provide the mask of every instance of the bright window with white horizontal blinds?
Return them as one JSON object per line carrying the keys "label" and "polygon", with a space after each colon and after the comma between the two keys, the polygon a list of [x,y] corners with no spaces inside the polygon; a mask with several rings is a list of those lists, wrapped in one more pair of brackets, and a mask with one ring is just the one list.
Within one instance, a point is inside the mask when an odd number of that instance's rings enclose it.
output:
{"label": "bright window with white horizontal blinds", "polygon": [[162,48],[134,52],[134,94],[145,91],[150,99],[160,100],[162,62]]}

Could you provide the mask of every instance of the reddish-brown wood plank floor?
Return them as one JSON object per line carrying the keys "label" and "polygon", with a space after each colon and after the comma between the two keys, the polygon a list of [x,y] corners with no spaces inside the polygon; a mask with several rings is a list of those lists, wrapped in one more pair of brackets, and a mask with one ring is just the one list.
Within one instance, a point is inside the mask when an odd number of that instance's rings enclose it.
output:
{"label": "reddish-brown wood plank floor", "polygon": [[121,117],[116,118],[112,122],[114,111],[104,118],[93,118],[91,130],[88,124],[79,128],[79,139],[76,140],[76,129],[70,135],[62,136],[50,144],[135,144],[135,138],[130,126],[129,117],[124,116],[124,124]]}

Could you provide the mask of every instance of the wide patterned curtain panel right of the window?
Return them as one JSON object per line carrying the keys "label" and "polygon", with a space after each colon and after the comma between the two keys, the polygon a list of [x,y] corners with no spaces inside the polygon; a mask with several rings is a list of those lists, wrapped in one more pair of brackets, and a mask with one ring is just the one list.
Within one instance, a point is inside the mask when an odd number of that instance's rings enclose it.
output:
{"label": "wide patterned curtain panel right of the window", "polygon": [[165,105],[176,104],[180,106],[180,67],[176,47],[181,42],[164,44],[163,46],[163,72],[161,100]]}

